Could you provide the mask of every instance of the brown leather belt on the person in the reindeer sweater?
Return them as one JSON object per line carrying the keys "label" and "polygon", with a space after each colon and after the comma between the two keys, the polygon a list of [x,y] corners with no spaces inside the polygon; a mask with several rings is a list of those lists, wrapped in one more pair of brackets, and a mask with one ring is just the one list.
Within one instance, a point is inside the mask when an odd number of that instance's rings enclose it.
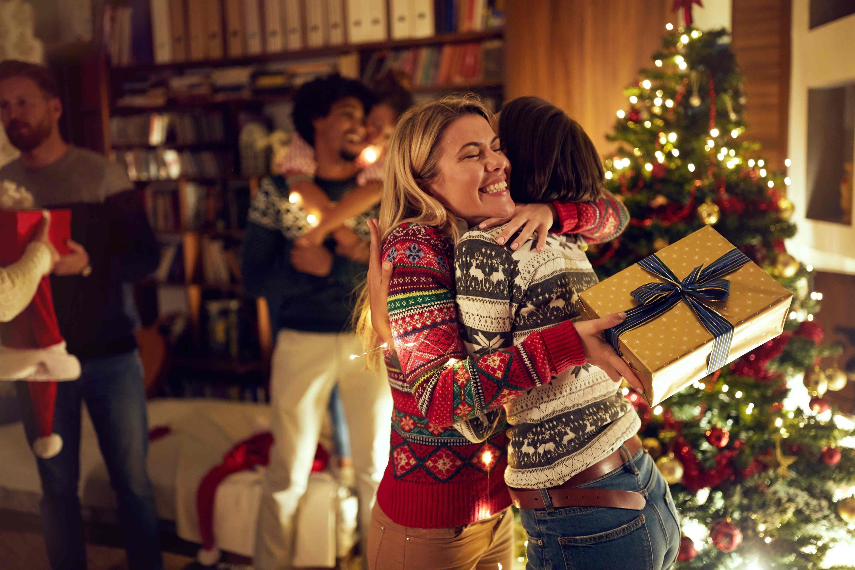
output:
{"label": "brown leather belt on the person in the reindeer sweater", "polygon": [[[641,439],[638,436],[629,438],[623,445],[626,446],[629,455],[641,449]],[[621,467],[628,458],[623,456],[620,449],[606,455],[604,459],[597,461],[581,473],[576,473],[570,479],[557,487],[546,490],[552,502],[552,506],[559,507],[612,507],[628,508],[630,510],[641,510],[645,508],[646,499],[636,491],[616,491],[614,489],[576,489],[580,485],[586,485],[595,479],[599,479],[606,473]],[[540,489],[508,489],[510,498],[516,508],[545,508]]]}

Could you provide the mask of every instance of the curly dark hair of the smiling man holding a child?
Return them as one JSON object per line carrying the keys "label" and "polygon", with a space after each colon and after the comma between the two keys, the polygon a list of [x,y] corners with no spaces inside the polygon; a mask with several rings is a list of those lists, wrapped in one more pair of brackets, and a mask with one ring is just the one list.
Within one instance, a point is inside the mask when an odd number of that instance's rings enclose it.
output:
{"label": "curly dark hair of the smiling man holding a child", "polygon": [[294,109],[291,113],[294,128],[297,129],[298,134],[314,146],[315,127],[312,126],[312,121],[329,115],[329,109],[333,107],[333,103],[345,97],[356,97],[363,103],[366,113],[377,102],[374,93],[369,91],[368,87],[356,79],[346,79],[339,73],[312,79],[301,85],[294,94]]}

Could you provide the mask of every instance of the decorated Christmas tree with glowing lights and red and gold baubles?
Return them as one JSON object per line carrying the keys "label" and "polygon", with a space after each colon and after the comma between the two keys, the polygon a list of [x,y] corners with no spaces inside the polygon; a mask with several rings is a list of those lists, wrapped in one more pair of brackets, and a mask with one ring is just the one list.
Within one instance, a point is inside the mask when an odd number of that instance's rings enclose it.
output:
{"label": "decorated Christmas tree with glowing lights and red and gold baubles", "polygon": [[793,292],[780,337],[661,406],[624,388],[681,511],[678,567],[855,565],[853,424],[823,398],[847,377],[814,320],[812,267],[786,250],[789,179],[746,141],[727,32],[668,29],[654,66],[626,90],[605,161],[632,220],[591,260],[604,278],[706,224]]}

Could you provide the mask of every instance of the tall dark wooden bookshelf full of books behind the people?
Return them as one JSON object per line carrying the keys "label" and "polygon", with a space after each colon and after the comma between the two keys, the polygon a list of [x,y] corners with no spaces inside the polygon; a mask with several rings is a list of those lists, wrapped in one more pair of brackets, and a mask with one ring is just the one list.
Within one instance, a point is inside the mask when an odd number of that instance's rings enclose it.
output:
{"label": "tall dark wooden bookshelf full of books behind the people", "polygon": [[[211,1],[226,7],[235,0]],[[276,1],[238,0],[239,3],[260,3],[262,9]],[[281,1],[284,6],[292,0]],[[299,0],[304,7],[310,1]],[[103,147],[127,167],[134,185],[144,194],[152,226],[162,244],[162,267],[155,277],[139,284],[138,289],[144,293],[138,292],[138,299],[147,299],[150,305],[144,312],[159,315],[156,325],[172,346],[170,375],[224,384],[229,393],[242,392],[245,381],[256,383],[261,385],[261,391],[254,391],[254,397],[266,397],[274,345],[268,305],[264,298],[246,297],[239,267],[234,267],[239,265],[235,260],[239,259],[246,209],[271,163],[271,150],[262,151],[262,158],[246,154],[242,136],[248,124],[260,122],[269,126],[270,132],[288,130],[287,126],[281,126],[280,119],[290,115],[287,109],[297,85],[335,71],[370,82],[376,79],[372,73],[390,66],[401,72],[399,76],[403,73],[410,79],[410,85],[405,86],[417,102],[445,92],[478,91],[497,110],[501,105],[504,27],[484,29],[489,20],[486,7],[493,6],[492,0],[433,0],[429,3],[424,0],[403,3],[401,0],[345,0],[345,5],[348,2],[382,4],[386,9],[387,26],[383,35],[387,39],[348,42],[348,32],[345,41],[337,45],[163,62],[156,57],[157,35],[161,32],[152,26],[152,43],[148,48],[152,56],[142,58],[147,61],[129,65],[112,65],[110,61],[117,61],[115,56],[122,49],[133,47],[136,50],[138,38],[133,38],[133,46],[122,48],[117,42],[131,42],[131,39],[116,38],[115,22],[108,22],[108,19],[116,17],[121,10],[138,10],[154,4],[150,0],[107,0],[105,3],[101,15],[104,22],[102,47],[98,49],[103,69],[101,91],[105,94],[102,97]],[[439,33],[388,39],[392,37],[393,4],[398,4],[399,9],[408,2],[430,4],[431,9],[443,10],[437,11],[432,28]],[[198,0],[172,0],[169,4],[183,4],[187,16],[193,3]],[[485,14],[481,24],[455,21],[457,15],[452,17],[449,12],[459,13],[461,18],[469,14],[472,18],[481,6]],[[133,12],[134,15],[139,13],[139,10]],[[127,13],[123,17],[127,17]],[[150,17],[153,25],[157,16],[152,13]],[[306,45],[308,15],[304,13],[302,17],[303,45]],[[132,32],[137,31],[134,26],[130,27]],[[192,23],[187,21],[185,26],[187,41],[190,41]],[[229,52],[228,26],[224,13],[221,15],[221,54]],[[262,20],[262,27],[267,26]],[[475,29],[479,27],[481,29]],[[125,28],[127,32],[127,26]],[[448,29],[458,31],[448,32]],[[267,40],[264,42],[267,47]],[[187,55],[189,50],[187,46]],[[487,50],[492,50],[490,60]],[[497,56],[498,64],[495,63]],[[127,54],[121,59],[127,62]],[[493,62],[492,66],[488,62]],[[227,79],[223,80],[224,77]],[[259,77],[273,80],[264,84]],[[238,201],[240,206],[236,205]],[[212,250],[230,257],[230,262],[220,260],[215,263],[218,267],[210,267]],[[238,305],[233,302],[239,303],[239,309],[235,309]],[[164,311],[168,313],[176,306],[184,311],[181,318],[186,324],[180,338],[169,338],[172,331],[169,323],[174,320],[167,320],[166,324],[160,320],[166,316],[162,314]],[[239,317],[234,316],[236,312]],[[213,320],[221,319],[223,314],[225,325]],[[241,323],[240,319],[244,318],[251,326]],[[236,319],[239,320],[237,326]],[[227,332],[223,337],[224,326],[228,331],[231,331],[229,327],[236,327],[238,331]],[[238,341],[233,340],[233,334],[239,336]],[[202,392],[209,394],[207,389]],[[257,396],[258,393],[261,396]]]}

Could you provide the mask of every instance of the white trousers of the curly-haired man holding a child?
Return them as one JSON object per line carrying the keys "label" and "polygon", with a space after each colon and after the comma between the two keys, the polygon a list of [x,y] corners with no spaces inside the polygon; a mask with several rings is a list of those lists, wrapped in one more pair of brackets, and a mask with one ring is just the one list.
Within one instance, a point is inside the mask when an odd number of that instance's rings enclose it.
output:
{"label": "white trousers of the curly-haired man holding a child", "polygon": [[392,392],[385,374],[366,370],[363,357],[351,359],[362,352],[353,334],[286,329],[276,338],[270,371],[274,444],[258,514],[257,570],[291,567],[298,504],[336,383],[351,432],[365,551],[371,508],[389,460]]}

